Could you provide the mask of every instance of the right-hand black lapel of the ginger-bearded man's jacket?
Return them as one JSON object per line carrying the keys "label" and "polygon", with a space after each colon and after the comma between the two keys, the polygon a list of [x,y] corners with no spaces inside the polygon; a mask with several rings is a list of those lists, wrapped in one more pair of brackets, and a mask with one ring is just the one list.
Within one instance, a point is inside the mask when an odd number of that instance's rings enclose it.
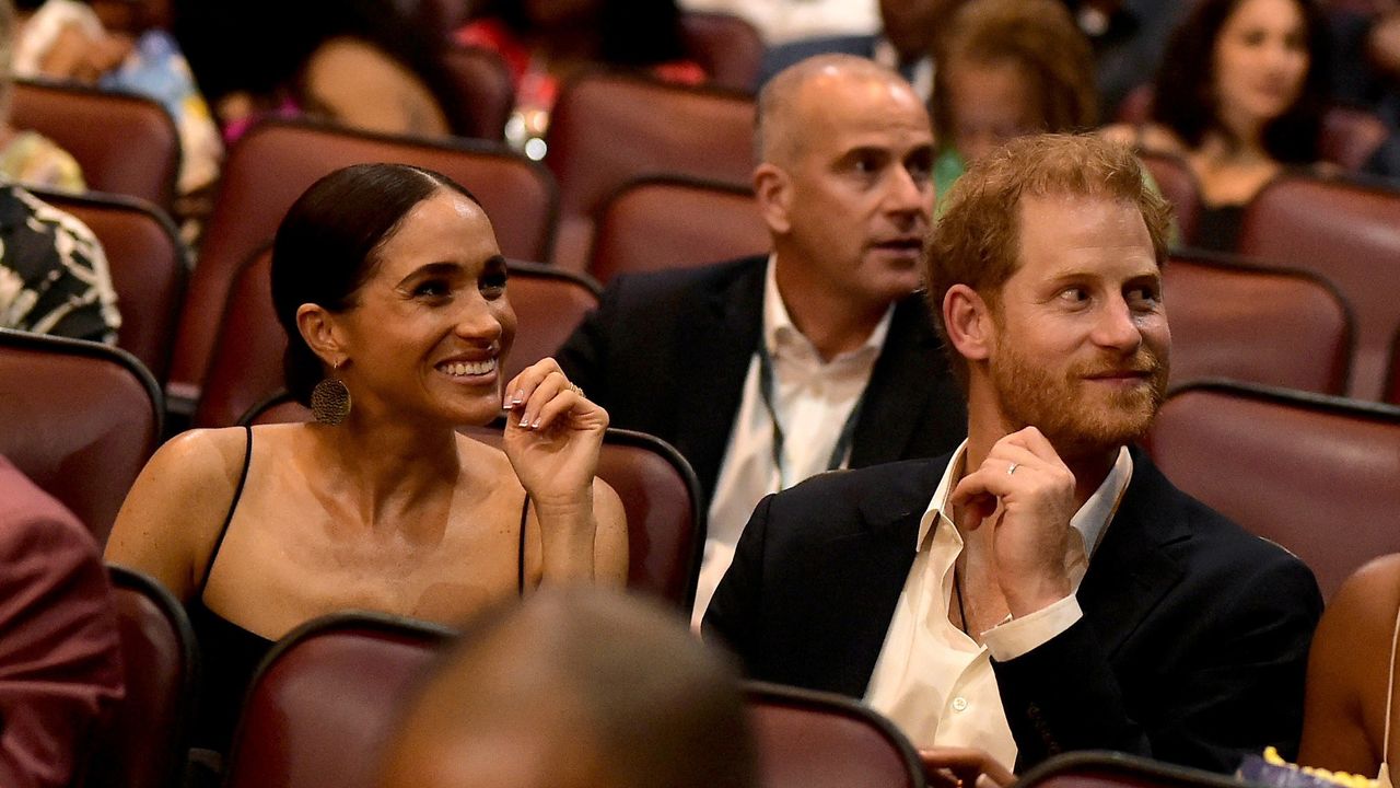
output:
{"label": "right-hand black lapel of the ginger-bearded man's jacket", "polygon": [[1184,569],[1163,545],[1190,537],[1175,488],[1145,454],[1133,450],[1133,481],[1079,586],[1079,606],[1109,658],[1182,580]]}

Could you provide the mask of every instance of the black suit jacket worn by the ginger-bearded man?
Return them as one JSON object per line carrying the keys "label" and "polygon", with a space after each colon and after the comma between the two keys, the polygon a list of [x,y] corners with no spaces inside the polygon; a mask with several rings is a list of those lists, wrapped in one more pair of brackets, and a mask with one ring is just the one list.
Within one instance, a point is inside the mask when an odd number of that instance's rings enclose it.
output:
{"label": "black suit jacket worn by the ginger-bearded man", "polygon": [[[949,457],[823,474],[766,498],[704,620],[749,674],[862,697]],[[1110,749],[1233,770],[1296,750],[1312,572],[1176,489],[1140,451],[1078,590],[1084,618],[993,662],[1025,768]]]}

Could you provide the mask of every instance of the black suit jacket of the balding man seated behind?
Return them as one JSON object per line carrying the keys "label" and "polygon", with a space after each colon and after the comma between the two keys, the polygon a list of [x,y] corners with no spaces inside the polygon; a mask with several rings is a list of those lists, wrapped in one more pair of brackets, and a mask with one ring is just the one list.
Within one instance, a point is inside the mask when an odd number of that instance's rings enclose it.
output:
{"label": "black suit jacket of the balding man seated behind", "polygon": [[[612,426],[675,446],[706,498],[762,338],[766,265],[753,257],[617,276],[557,355],[570,380],[608,408]],[[871,373],[850,466],[935,457],[962,442],[966,425],[928,310],[909,296],[895,307]]]}

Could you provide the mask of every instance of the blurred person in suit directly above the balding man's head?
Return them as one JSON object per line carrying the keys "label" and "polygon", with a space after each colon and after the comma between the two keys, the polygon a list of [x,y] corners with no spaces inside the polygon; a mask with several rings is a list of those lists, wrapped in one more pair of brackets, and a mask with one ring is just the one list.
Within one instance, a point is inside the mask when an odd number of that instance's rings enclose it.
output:
{"label": "blurred person in suit directly above the balding man's head", "polygon": [[881,31],[874,35],[808,38],[769,48],[763,81],[813,55],[840,52],[869,57],[900,73],[925,102],[934,93],[934,42],[966,0],[881,0]]}

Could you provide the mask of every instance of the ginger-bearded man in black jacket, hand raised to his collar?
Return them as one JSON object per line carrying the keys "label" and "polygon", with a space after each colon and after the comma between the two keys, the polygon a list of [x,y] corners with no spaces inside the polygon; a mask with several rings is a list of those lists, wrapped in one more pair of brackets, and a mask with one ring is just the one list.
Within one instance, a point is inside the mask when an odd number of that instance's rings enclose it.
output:
{"label": "ginger-bearded man in black jacket, hand raised to his collar", "polygon": [[924,275],[967,440],[763,499],[707,637],[755,679],[864,698],[916,746],[1018,768],[1294,752],[1312,572],[1131,446],[1168,377],[1169,208],[1127,149],[1056,135],[948,199]]}

